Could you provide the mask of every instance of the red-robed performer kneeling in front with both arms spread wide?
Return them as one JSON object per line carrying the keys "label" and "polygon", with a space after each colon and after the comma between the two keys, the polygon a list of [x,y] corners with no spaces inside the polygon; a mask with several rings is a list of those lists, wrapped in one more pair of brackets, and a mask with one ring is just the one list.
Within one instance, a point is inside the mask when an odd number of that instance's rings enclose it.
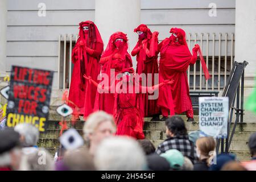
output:
{"label": "red-robed performer kneeling in front with both arms spread wide", "polygon": [[[141,99],[141,92],[153,92],[160,86],[171,84],[173,81],[164,80],[161,84],[154,86],[141,86],[139,82],[133,82],[130,73],[133,73],[133,68],[126,69],[127,72],[121,74],[122,78],[118,81],[117,90],[114,96],[114,110],[113,117],[117,125],[116,135],[127,135],[135,139],[144,139],[143,125],[144,125],[144,111],[143,100]],[[97,86],[98,89],[109,91],[111,86],[102,86],[92,78],[85,76],[89,82]],[[136,88],[139,93],[135,92]],[[130,89],[131,88],[131,89]],[[131,90],[131,92],[129,92]]]}

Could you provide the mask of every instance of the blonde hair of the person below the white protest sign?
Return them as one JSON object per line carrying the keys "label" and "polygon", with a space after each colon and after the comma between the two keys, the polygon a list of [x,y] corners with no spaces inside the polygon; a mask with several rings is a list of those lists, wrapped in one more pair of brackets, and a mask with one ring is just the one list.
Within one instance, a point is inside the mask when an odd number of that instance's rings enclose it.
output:
{"label": "blonde hair of the person below the white protest sign", "polygon": [[196,140],[196,146],[200,150],[201,154],[207,156],[207,163],[209,165],[209,159],[212,157],[215,150],[215,140],[213,137],[201,137]]}

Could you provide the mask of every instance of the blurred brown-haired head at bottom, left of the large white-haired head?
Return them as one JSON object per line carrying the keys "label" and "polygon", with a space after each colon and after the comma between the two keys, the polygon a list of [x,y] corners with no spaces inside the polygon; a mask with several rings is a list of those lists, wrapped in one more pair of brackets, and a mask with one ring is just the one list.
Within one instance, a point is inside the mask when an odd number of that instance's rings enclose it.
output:
{"label": "blurred brown-haired head at bottom, left of the large white-haired head", "polygon": [[89,154],[86,148],[68,151],[64,155],[63,163],[70,171],[95,170],[92,155]]}

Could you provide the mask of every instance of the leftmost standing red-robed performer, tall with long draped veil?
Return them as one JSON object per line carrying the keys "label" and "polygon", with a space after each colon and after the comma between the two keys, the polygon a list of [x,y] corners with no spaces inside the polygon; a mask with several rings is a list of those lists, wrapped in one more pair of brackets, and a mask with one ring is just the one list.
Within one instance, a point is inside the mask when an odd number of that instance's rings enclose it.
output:
{"label": "leftmost standing red-robed performer, tall with long draped veil", "polygon": [[[100,73],[100,56],[103,51],[103,42],[97,26],[91,22],[79,24],[79,38],[72,50],[74,64],[68,100],[80,108],[80,114],[85,117],[92,113],[96,88],[86,84],[82,75],[86,74],[97,80]],[[69,103],[69,106],[75,106]],[[85,108],[85,109],[84,109]]]}

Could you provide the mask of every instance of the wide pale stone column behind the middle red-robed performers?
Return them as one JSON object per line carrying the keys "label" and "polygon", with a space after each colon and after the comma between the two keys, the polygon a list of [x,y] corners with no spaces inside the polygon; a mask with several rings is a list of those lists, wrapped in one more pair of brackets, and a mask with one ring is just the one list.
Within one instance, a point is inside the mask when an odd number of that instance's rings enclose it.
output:
{"label": "wide pale stone column behind the middle red-robed performers", "polygon": [[[96,0],[95,23],[100,31],[105,48],[110,35],[116,31],[122,31],[127,34],[131,52],[138,40],[138,35],[133,30],[141,23],[141,1]],[[133,65],[135,68],[134,57]]]}

